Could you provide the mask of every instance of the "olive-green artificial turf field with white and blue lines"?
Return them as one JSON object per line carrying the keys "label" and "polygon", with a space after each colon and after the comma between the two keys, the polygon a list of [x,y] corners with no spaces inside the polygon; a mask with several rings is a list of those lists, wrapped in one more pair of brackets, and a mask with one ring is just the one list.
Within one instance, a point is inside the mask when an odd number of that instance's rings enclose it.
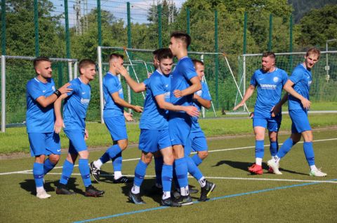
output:
{"label": "olive-green artificial turf field with white and blue lines", "polygon": [[[289,134],[279,136],[282,143]],[[265,141],[265,144],[269,144]],[[32,177],[32,158],[0,160],[1,222],[336,222],[337,219],[337,130],[314,130],[317,167],[328,173],[326,178],[308,175],[309,168],[298,143],[281,161],[283,175],[267,173],[270,159],[265,147],[263,175],[251,175],[247,167],[254,161],[252,135],[213,138],[209,141],[209,157],[200,169],[208,180],[216,183],[209,201],[192,206],[166,208],[159,206],[161,196],[150,194],[154,184],[154,166],[147,168],[142,186],[145,205],[128,202],[131,184],[112,183],[112,164],[103,166],[102,182],[94,184],[105,190],[100,198],[85,197],[84,185],[77,166],[69,181],[74,196],[55,194],[65,154],[58,166],[46,175],[45,188],[50,199],[37,199]],[[91,151],[90,161],[104,150]],[[140,151],[128,148],[124,154],[123,173],[133,175]],[[11,173],[10,173],[11,172]],[[16,172],[16,173],[13,173]],[[199,183],[190,178],[190,185]],[[192,194],[197,201],[199,194]]]}

